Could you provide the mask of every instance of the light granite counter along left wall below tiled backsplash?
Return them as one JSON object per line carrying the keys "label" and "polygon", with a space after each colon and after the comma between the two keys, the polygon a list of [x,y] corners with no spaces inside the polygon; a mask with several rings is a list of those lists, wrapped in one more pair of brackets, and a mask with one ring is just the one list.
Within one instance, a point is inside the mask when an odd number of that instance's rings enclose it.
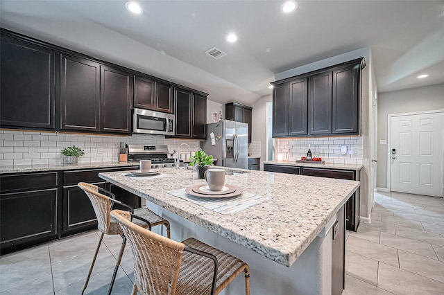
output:
{"label": "light granite counter along left wall below tiled backsplash", "polygon": [[58,170],[76,170],[76,169],[90,169],[90,168],[113,168],[139,166],[139,162],[93,162],[93,163],[78,163],[78,164],[38,164],[38,165],[17,165],[17,166],[0,166],[0,175],[6,173],[24,173],[24,172],[43,172],[43,171],[58,171]]}

